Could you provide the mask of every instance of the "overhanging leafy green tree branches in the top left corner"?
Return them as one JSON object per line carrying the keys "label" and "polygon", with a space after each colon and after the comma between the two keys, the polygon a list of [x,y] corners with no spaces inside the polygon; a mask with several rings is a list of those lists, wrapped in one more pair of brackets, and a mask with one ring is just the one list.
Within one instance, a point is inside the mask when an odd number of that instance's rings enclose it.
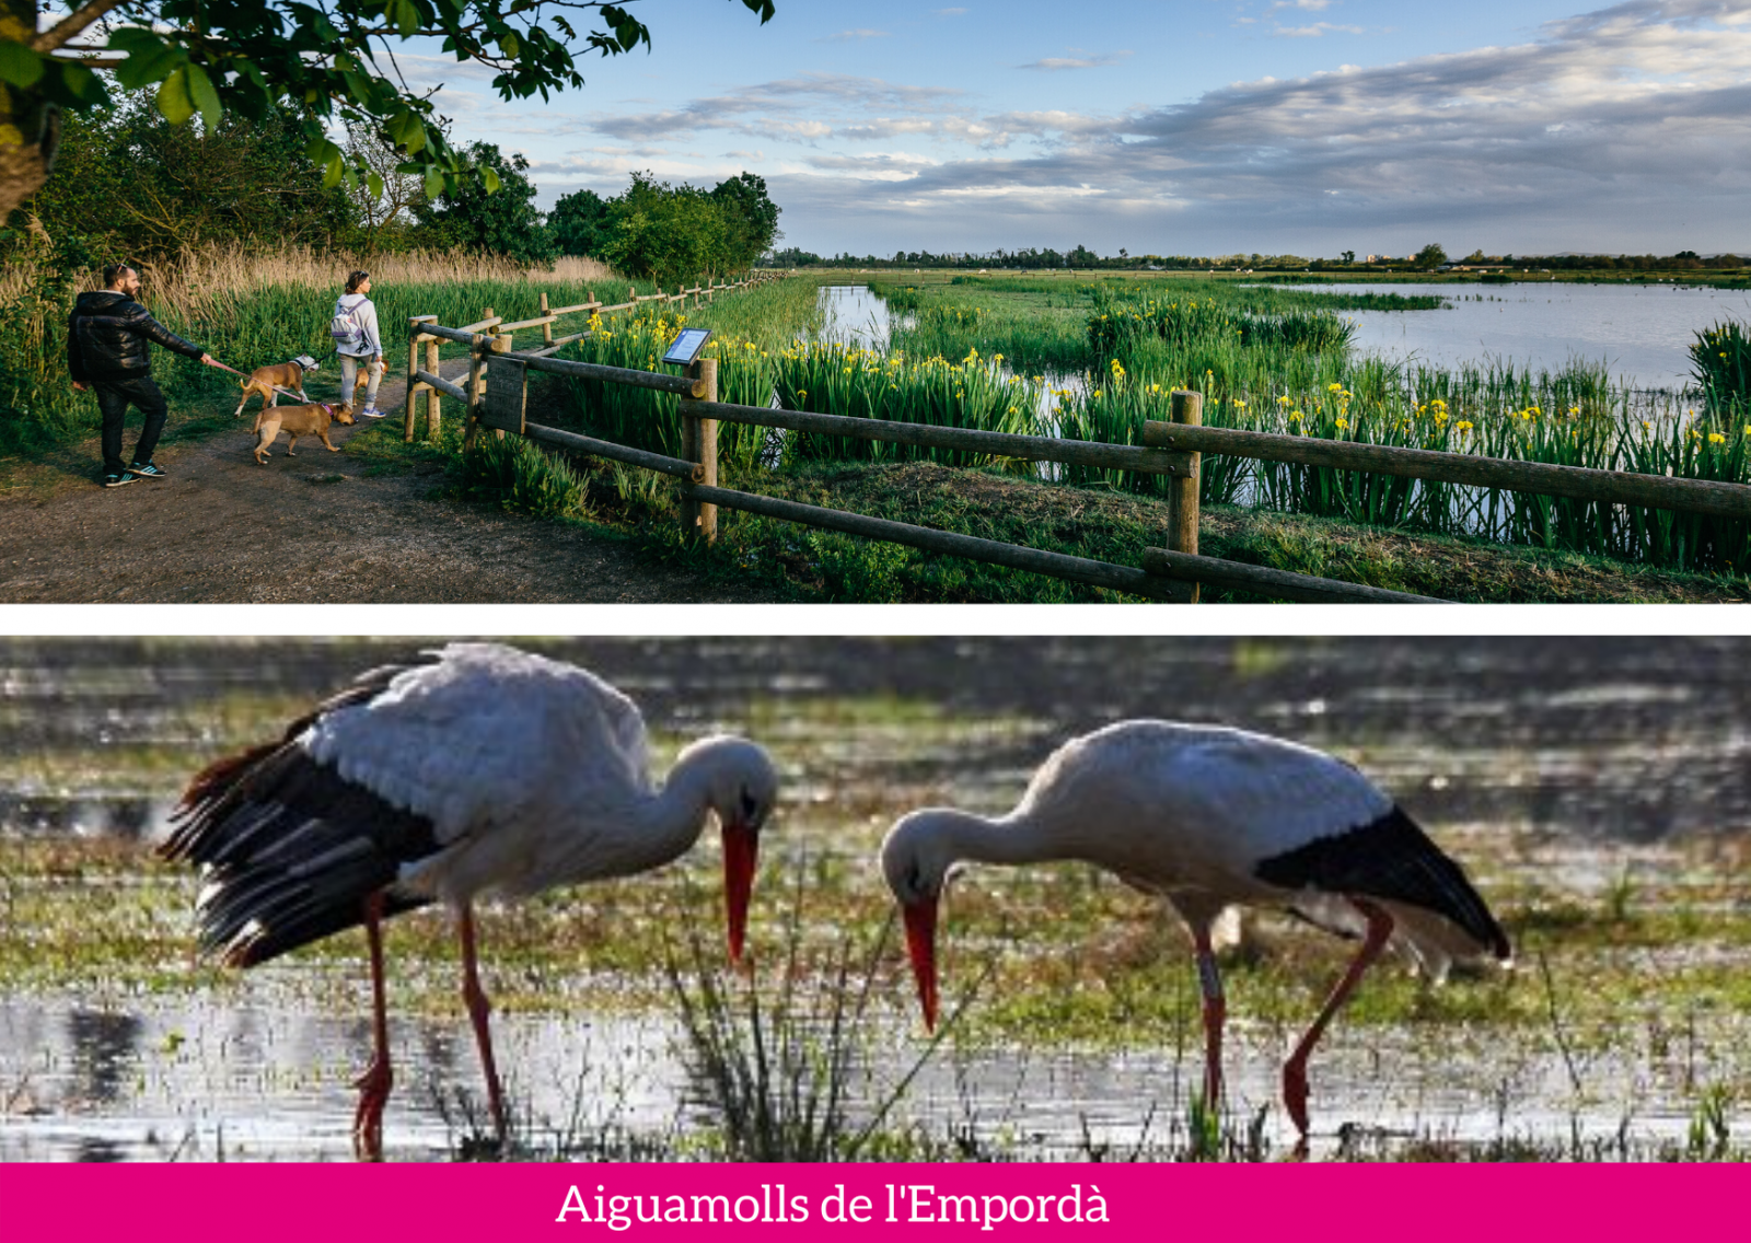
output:
{"label": "overhanging leafy green tree branches in the top left corner", "polygon": [[[457,61],[497,70],[494,88],[522,100],[583,86],[576,54],[604,56],[651,46],[650,30],[622,5],[601,0],[68,0],[70,12],[39,32],[39,0],[0,0],[0,217],[47,179],[61,144],[63,112],[109,100],[95,70],[126,89],[156,86],[156,107],[184,124],[200,112],[207,131],[226,116],[263,123],[287,112],[324,184],[364,182],[380,173],[347,159],[329,138],[333,123],[385,135],[403,172],[425,182],[425,196],[480,179],[497,189],[496,170],[473,168],[432,124],[429,96],[415,95],[394,70],[392,40],[441,39]],[[741,0],[765,25],[774,0]],[[576,14],[606,30],[581,33]],[[543,21],[545,19],[545,21]],[[95,42],[105,35],[105,42]],[[576,47],[576,51],[574,51]],[[390,65],[396,81],[378,63]]]}

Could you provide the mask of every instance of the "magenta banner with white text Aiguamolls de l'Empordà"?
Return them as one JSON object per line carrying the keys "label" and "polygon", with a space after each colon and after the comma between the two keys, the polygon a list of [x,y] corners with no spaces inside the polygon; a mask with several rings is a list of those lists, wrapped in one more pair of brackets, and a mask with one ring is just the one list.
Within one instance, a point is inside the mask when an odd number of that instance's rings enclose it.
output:
{"label": "magenta banner with white text Aiguamolls de l'Empord\u00e0", "polygon": [[[0,1166],[0,1239],[1719,1236],[1744,1166]],[[1726,1227],[1732,1236],[1732,1229]]]}

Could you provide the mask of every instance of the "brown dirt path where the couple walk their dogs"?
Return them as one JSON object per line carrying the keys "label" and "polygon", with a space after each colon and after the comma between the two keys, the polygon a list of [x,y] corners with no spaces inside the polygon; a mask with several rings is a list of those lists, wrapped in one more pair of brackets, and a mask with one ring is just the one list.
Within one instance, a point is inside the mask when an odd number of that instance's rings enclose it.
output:
{"label": "brown dirt path where the couple walk their dogs", "polygon": [[[464,373],[466,361],[445,366]],[[397,411],[404,382],[378,404]],[[448,410],[455,410],[448,406]],[[448,413],[447,410],[447,413]],[[555,522],[434,499],[431,474],[369,478],[305,439],[266,467],[238,431],[156,453],[170,478],[93,483],[102,453],[75,446],[0,495],[0,600],[229,604],[767,602],[639,560],[616,539]],[[338,427],[345,445],[362,427]],[[124,448],[138,417],[130,415]]]}

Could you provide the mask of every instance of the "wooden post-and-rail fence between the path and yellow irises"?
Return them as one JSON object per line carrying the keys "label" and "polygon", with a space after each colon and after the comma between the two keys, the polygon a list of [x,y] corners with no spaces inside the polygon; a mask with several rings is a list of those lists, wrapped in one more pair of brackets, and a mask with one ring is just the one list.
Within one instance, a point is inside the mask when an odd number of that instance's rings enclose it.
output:
{"label": "wooden post-and-rail fence between the path and yellow irises", "polygon": [[[560,306],[532,320],[501,324],[489,310],[480,324],[466,327],[443,327],[432,317],[410,320],[411,345],[408,350],[408,413],[406,434],[413,438],[413,403],[415,385],[427,392],[427,427],[438,429],[438,394],[447,394],[468,403],[469,427],[468,438],[482,429],[494,429],[501,436],[520,434],[541,445],[569,448],[580,453],[606,457],[648,471],[672,476],[681,488],[681,527],[686,534],[714,541],[718,536],[718,509],[741,509],[769,518],[797,522],[825,530],[840,530],[865,539],[923,548],[933,553],[967,557],[970,560],[1009,565],[1037,574],[1049,574],[1075,583],[1107,586],[1131,595],[1156,600],[1196,602],[1201,583],[1238,590],[1273,599],[1303,600],[1313,604],[1327,602],[1368,602],[1368,604],[1439,604],[1427,595],[1410,595],[1389,592],[1378,586],[1343,583],[1310,574],[1292,574],[1287,571],[1247,565],[1217,557],[1198,555],[1198,474],[1203,453],[1233,453],[1271,462],[1297,462],[1304,466],[1329,466],[1350,471],[1375,471],[1420,480],[1446,483],[1469,483],[1476,487],[1506,488],[1515,492],[1539,492],[1546,495],[1579,497],[1586,501],[1604,501],[1613,504],[1642,504],[1662,509],[1693,509],[1733,518],[1751,518],[1751,487],[1739,483],[1718,483],[1712,480],[1679,480],[1660,474],[1634,474],[1625,471],[1592,471],[1574,466],[1550,466],[1544,462],[1516,462],[1508,459],[1476,457],[1471,453],[1445,453],[1417,448],[1392,448],[1385,445],[1361,445],[1354,441],[1327,441],[1310,436],[1278,436],[1269,432],[1245,432],[1227,427],[1203,425],[1203,396],[1198,392],[1177,390],[1171,396],[1171,422],[1149,422],[1143,431],[1143,445],[1110,445],[1103,441],[1073,441],[1054,436],[1017,436],[1010,432],[970,431],[960,427],[935,427],[926,424],[888,422],[879,418],[851,418],[844,415],[818,415],[802,410],[770,410],[765,406],[739,406],[718,401],[718,362],[700,359],[683,375],[665,375],[655,371],[637,371],[627,368],[601,366],[595,362],[566,362],[548,357],[566,341],[580,340],[588,333],[576,333],[564,338],[552,334],[552,324],[559,315],[573,312],[615,312],[630,310],[643,301],[664,298],[679,301],[697,299],[704,294],[725,289],[742,289],[760,280],[770,280],[767,273],[756,273],[748,280],[707,289],[683,289],[676,294],[634,296],[632,301],[602,306],[599,303],[580,303],[578,306]],[[543,329],[543,343],[534,350],[513,350],[511,331],[532,327]],[[436,375],[436,341],[466,341],[469,345],[469,383],[461,387]],[[415,369],[413,359],[418,343],[427,343],[427,366]],[[490,361],[492,383],[487,383]],[[567,375],[608,383],[627,383],[658,392],[672,392],[681,397],[681,457],[667,457],[648,450],[630,448],[613,441],[580,436],[557,427],[545,427],[527,420],[525,394],[527,373],[546,371],[550,375]],[[918,527],[888,518],[849,513],[846,509],[828,509],[823,506],[800,504],[779,497],[760,495],[718,487],[718,424],[751,424],[756,427],[777,427],[795,432],[819,432],[826,436],[851,436],[858,439],[888,441],[897,445],[925,445],[935,448],[954,448],[993,457],[1017,457],[1037,462],[1059,462],[1093,466],[1103,469],[1140,471],[1168,476],[1168,529],[1164,548],[1145,548],[1142,565],[1121,565],[1115,562],[1070,557],[1044,548],[1028,548],[996,539],[979,539],[932,527]]]}

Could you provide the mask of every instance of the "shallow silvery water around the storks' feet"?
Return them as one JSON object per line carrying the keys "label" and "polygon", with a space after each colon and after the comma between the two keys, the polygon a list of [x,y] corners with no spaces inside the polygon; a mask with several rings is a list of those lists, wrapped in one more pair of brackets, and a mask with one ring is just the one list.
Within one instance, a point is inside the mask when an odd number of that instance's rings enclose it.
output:
{"label": "shallow silvery water around the storks' feet", "polygon": [[[296,968],[277,968],[284,984]],[[51,994],[0,998],[0,1161],[343,1161],[352,1157],[354,1075],[369,1057],[357,1017],[271,998],[257,980],[242,1003],[145,998],[102,1007]],[[461,1010],[461,1007],[459,1007]],[[468,1022],[390,1021],[396,1091],[385,1113],[389,1159],[454,1155],[485,1117]],[[881,1024],[854,1075],[881,1099],[923,1042],[905,1019]],[[1250,1117],[1276,1099],[1283,1033],[1245,1015],[1229,1024],[1229,1106]],[[1744,1036],[1739,1043],[1742,1047]],[[660,1017],[494,1017],[506,1096],[522,1147],[536,1155],[622,1155],[643,1138],[671,1159],[702,1115],[676,1028]],[[1726,1040],[1726,1036],[1714,1036]],[[947,1047],[888,1122],[953,1131],[1007,1155],[1086,1157],[1166,1145],[1199,1075],[1191,1033],[1175,1050]],[[1740,1066],[1742,1073],[1744,1066]],[[1681,1066],[1639,1052],[1583,1054],[1579,1087],[1565,1059],[1523,1042],[1336,1024],[1311,1064],[1313,1154],[1348,1127],[1394,1138],[1488,1143],[1506,1136],[1607,1140],[1625,1124],[1637,1145],[1683,1143],[1691,1092]],[[854,1113],[858,1122],[863,1113]],[[1292,1131],[1271,1112],[1282,1154]],[[1733,1122],[1751,1140],[1751,1119]]]}

